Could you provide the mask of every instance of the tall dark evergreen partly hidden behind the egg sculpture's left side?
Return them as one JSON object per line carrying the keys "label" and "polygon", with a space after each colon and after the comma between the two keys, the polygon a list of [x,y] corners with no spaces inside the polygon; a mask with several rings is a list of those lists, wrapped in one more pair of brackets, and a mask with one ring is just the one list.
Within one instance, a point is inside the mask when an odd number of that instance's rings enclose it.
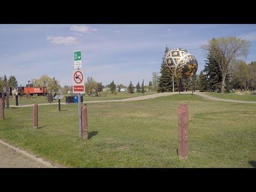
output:
{"label": "tall dark evergreen partly hidden behind the egg sculpture's left side", "polygon": [[[166,46],[164,51],[164,58],[165,55],[169,52],[169,48]],[[164,58],[161,64],[160,74],[158,81],[158,89],[157,92],[170,92],[172,91],[172,75],[164,65]]]}

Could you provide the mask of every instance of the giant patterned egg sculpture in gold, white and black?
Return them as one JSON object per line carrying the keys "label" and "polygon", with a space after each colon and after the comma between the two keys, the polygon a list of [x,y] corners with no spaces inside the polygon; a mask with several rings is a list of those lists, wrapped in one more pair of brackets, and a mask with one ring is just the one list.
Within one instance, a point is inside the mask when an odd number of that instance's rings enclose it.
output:
{"label": "giant patterned egg sculpture in gold, white and black", "polygon": [[175,48],[167,52],[164,65],[171,75],[179,79],[187,79],[195,74],[198,68],[197,60],[193,54],[185,49]]}

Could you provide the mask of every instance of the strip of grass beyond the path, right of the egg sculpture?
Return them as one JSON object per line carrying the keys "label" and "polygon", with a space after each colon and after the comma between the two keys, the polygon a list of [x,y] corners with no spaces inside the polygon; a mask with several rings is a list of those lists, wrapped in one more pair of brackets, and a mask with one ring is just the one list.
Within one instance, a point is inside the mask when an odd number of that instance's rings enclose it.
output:
{"label": "strip of grass beyond the path, right of the egg sculpture", "polygon": [[235,92],[235,93],[215,93],[215,92],[204,92],[204,94],[211,95],[215,98],[221,99],[234,99],[239,101],[256,101],[256,92]]}

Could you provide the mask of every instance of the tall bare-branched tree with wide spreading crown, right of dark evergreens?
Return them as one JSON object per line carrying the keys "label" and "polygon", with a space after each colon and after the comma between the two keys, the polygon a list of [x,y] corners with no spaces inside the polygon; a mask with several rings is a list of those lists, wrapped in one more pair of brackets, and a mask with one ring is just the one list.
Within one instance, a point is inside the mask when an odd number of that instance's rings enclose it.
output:
{"label": "tall bare-branched tree with wide spreading crown, right of dark evergreens", "polygon": [[222,73],[221,93],[225,91],[225,79],[231,61],[237,58],[246,58],[251,43],[235,36],[213,38],[208,44],[202,45],[202,49],[211,53],[218,62]]}

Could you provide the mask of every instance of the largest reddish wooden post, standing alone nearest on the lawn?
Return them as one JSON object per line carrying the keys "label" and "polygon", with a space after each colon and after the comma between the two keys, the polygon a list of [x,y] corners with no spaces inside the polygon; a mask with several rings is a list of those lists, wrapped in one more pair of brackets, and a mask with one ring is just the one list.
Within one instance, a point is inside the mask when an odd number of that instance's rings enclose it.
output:
{"label": "largest reddish wooden post, standing alone nearest on the lawn", "polygon": [[188,105],[179,106],[178,110],[178,137],[179,148],[178,156],[180,158],[188,158]]}

